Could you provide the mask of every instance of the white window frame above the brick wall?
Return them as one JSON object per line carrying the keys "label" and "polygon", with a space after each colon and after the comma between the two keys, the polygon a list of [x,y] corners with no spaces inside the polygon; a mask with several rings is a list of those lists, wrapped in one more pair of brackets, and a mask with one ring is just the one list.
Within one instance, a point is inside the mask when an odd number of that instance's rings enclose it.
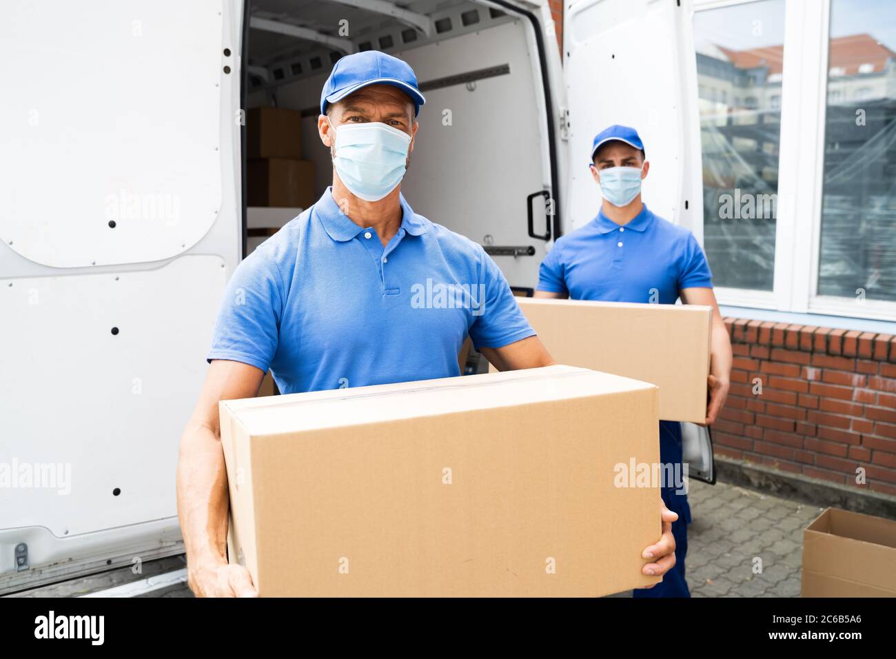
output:
{"label": "white window frame above the brick wall", "polygon": [[[761,0],[693,0],[694,12]],[[896,320],[896,302],[818,294],[831,0],[786,0],[773,289],[718,287],[719,303]],[[792,218],[792,221],[782,221]]]}

